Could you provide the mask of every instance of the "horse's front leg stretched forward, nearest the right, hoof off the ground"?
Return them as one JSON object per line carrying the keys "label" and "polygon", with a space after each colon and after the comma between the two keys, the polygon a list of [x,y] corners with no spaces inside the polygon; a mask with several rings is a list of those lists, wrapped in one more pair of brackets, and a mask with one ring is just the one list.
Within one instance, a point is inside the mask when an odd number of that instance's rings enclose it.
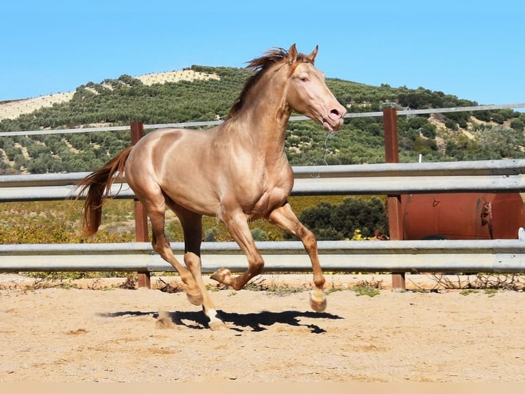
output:
{"label": "horse's front leg stretched forward, nearest the right, hoof off the ground", "polygon": [[291,235],[299,237],[301,242],[310,256],[313,268],[313,283],[315,289],[310,292],[310,306],[316,312],[323,312],[326,309],[326,294],[323,292],[324,276],[321,264],[319,264],[319,255],[317,254],[317,238],[312,231],[304,227],[295,213],[293,213],[289,202],[282,207],[273,209],[266,216],[269,222],[276,224],[278,227]]}

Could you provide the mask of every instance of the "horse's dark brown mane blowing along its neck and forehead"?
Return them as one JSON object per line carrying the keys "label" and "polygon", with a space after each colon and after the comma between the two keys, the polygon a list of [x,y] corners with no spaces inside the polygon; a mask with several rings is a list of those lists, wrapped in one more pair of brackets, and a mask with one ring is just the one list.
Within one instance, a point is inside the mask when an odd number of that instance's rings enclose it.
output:
{"label": "horse's dark brown mane blowing along its neck and forehead", "polygon": [[[257,82],[259,82],[260,78],[265,73],[265,71],[267,71],[267,69],[269,69],[276,63],[282,62],[287,57],[288,51],[286,51],[286,49],[273,48],[266,51],[264,56],[261,56],[260,58],[255,58],[254,60],[247,62],[246,68],[256,71],[256,73],[246,80],[243,90],[241,91],[241,94],[239,94],[239,97],[237,97],[237,100],[235,100],[232,108],[230,109],[230,113],[228,114],[227,119],[235,117],[235,115],[237,115],[239,111],[241,111],[241,108],[243,108],[245,104],[248,92]],[[304,54],[297,54],[297,60],[300,62],[309,61],[308,57]]]}

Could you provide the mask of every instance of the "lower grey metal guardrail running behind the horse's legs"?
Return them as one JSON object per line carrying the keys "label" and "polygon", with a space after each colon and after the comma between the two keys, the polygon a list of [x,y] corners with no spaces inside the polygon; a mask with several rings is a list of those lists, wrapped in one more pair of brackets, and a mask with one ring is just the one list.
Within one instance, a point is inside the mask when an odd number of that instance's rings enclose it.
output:
{"label": "lower grey metal guardrail running behind the horse's legs", "polygon": [[[256,242],[265,270],[311,270],[299,241]],[[175,256],[184,243],[172,242]],[[522,240],[319,241],[323,270],[387,273],[525,273]],[[203,242],[202,272],[227,266],[243,271],[245,255],[235,242]],[[0,271],[171,272],[173,267],[147,242],[125,244],[0,245]]]}

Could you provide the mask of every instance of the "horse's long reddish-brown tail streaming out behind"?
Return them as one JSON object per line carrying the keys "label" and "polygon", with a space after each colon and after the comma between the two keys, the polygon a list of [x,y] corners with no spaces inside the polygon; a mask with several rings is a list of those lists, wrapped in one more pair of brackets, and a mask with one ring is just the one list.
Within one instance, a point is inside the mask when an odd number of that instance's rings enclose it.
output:
{"label": "horse's long reddish-brown tail streaming out behind", "polygon": [[114,174],[123,175],[124,165],[127,157],[130,156],[132,148],[132,146],[126,148],[99,170],[89,174],[78,183],[77,189],[80,190],[77,194],[77,199],[86,194],[82,219],[82,231],[85,235],[93,235],[99,229],[102,218],[102,205],[110,194],[111,185],[117,180]]}

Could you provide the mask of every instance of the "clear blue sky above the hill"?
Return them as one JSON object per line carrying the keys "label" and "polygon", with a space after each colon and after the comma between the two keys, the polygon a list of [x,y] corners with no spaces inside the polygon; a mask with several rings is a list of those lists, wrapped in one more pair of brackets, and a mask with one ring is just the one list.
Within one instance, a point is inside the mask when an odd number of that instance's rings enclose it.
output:
{"label": "clear blue sky above the hill", "polygon": [[525,2],[25,1],[0,11],[0,101],[191,65],[244,67],[271,47],[328,78],[525,102]]}

